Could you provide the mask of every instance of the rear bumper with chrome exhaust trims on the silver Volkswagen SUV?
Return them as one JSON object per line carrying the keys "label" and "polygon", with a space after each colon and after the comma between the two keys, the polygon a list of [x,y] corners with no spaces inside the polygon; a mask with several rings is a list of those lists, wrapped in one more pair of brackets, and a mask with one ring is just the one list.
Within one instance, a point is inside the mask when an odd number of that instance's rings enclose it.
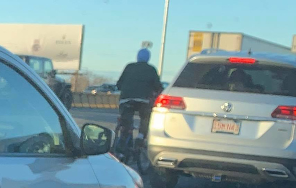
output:
{"label": "rear bumper with chrome exhaust trims on the silver Volkswagen SUV", "polygon": [[[296,181],[296,159],[265,157],[167,146],[149,145],[155,166],[182,170],[193,176],[259,183]],[[215,179],[214,179],[215,180]]]}

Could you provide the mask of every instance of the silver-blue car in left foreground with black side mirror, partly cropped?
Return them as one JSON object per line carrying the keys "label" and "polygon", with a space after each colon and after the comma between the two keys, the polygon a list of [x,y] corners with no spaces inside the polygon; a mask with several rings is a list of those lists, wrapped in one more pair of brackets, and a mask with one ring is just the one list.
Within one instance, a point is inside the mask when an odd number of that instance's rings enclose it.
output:
{"label": "silver-blue car in left foreground with black side mirror, partly cropped", "polygon": [[53,91],[16,55],[0,48],[0,187],[143,187],[108,153],[113,132],[78,128]]}

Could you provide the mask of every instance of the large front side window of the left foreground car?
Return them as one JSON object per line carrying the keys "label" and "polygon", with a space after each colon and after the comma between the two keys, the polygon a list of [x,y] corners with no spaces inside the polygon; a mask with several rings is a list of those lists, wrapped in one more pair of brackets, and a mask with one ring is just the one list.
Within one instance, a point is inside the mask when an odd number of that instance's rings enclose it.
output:
{"label": "large front side window of the left foreground car", "polygon": [[0,63],[0,154],[64,153],[60,118],[24,77]]}

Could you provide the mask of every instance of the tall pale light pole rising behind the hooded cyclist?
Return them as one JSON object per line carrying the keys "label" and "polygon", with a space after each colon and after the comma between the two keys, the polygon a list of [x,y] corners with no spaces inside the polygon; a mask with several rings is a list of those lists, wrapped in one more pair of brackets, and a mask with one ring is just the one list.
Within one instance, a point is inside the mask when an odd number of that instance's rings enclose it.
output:
{"label": "tall pale light pole rising behind the hooded cyclist", "polygon": [[158,72],[160,78],[163,74],[163,64],[164,64],[164,55],[165,55],[165,44],[166,44],[166,35],[167,35],[167,22],[168,22],[168,13],[169,13],[169,3],[170,0],[165,0],[165,13],[164,13],[164,26],[163,26],[163,35],[162,35],[162,46],[161,46],[161,54],[160,54],[160,62]]}

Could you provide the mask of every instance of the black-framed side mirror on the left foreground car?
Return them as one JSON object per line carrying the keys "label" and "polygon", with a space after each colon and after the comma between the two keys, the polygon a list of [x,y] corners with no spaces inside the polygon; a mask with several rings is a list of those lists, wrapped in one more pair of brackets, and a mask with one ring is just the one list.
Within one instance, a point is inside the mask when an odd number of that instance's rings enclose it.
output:
{"label": "black-framed side mirror on the left foreground car", "polygon": [[114,143],[115,133],[103,126],[84,124],[80,136],[83,154],[99,155],[107,153]]}

